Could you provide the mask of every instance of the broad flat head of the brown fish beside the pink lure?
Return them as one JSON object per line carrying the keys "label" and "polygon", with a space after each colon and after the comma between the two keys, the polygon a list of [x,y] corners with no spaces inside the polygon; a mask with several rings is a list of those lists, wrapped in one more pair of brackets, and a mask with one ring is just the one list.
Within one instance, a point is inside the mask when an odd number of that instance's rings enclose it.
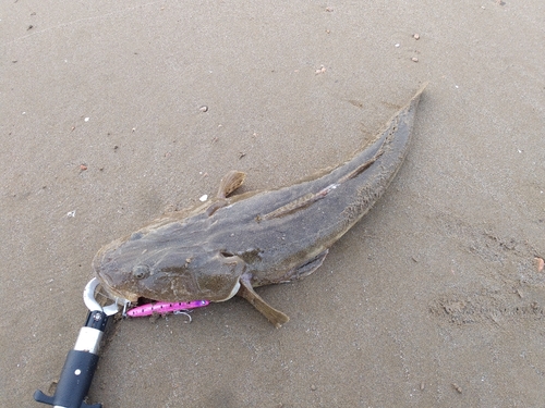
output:
{"label": "broad flat head of the brown fish beside the pink lure", "polygon": [[241,258],[169,235],[143,230],[102,247],[93,269],[105,290],[131,302],[222,301],[237,294],[246,268]]}

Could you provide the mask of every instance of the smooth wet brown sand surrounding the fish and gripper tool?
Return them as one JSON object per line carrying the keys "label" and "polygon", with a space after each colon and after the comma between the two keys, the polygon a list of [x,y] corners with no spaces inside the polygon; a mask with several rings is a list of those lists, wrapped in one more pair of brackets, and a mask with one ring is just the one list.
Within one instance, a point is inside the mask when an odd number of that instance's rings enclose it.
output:
{"label": "smooth wet brown sand surrounding the fish and gripper tool", "polygon": [[240,298],[119,321],[89,401],[543,406],[543,1],[0,11],[0,406],[58,379],[101,245],[230,170],[249,191],[344,160],[424,82],[386,195],[313,275],[258,289],[288,324]]}

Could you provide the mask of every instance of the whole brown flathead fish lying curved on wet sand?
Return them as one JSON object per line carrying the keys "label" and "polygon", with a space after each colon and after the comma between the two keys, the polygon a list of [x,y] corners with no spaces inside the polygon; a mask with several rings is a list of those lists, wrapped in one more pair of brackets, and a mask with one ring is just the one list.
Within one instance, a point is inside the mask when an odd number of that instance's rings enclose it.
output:
{"label": "whole brown flathead fish lying curved on wet sand", "polygon": [[105,290],[140,300],[246,299],[276,327],[289,317],[255,287],[301,280],[383,196],[409,149],[423,85],[349,160],[291,186],[233,193],[245,173],[230,171],[215,198],[165,213],[104,246],[93,270]]}

